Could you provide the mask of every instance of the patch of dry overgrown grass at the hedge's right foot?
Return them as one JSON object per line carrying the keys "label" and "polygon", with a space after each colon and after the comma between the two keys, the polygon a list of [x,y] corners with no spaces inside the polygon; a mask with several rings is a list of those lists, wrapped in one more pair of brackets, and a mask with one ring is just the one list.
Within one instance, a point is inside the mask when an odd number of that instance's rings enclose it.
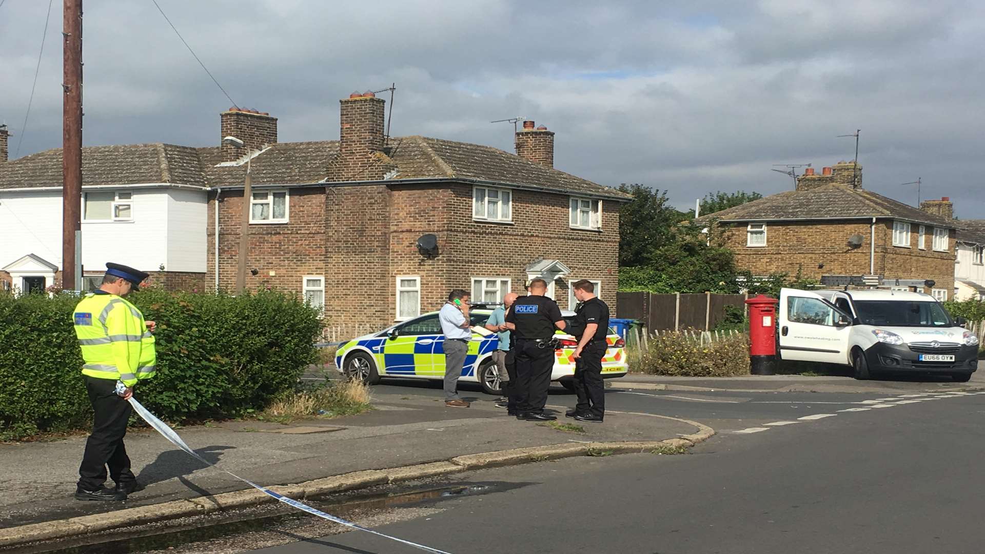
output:
{"label": "patch of dry overgrown grass at the hedge's right foot", "polygon": [[369,388],[361,381],[325,381],[325,384],[283,394],[257,419],[288,423],[311,416],[340,417],[372,409]]}

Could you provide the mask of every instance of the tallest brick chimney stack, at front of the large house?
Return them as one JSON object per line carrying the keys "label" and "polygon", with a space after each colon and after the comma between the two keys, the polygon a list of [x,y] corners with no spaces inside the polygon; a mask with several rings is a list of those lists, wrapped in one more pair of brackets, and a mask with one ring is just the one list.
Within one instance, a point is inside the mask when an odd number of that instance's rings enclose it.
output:
{"label": "tallest brick chimney stack, at front of the large house", "polygon": [[[376,95],[353,93],[339,101],[339,161],[331,180],[374,180],[383,177],[380,165],[385,146],[386,103]],[[378,174],[377,174],[378,173]]]}

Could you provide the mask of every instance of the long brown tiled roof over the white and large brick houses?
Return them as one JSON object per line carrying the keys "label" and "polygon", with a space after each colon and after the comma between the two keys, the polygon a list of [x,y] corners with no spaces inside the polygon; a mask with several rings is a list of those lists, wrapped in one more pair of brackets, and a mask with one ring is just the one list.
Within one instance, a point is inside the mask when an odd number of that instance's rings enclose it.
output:
{"label": "long brown tiled roof over the white and large brick houses", "polygon": [[[631,198],[569,173],[544,167],[488,146],[432,139],[396,137],[390,159],[395,181],[410,178],[475,179],[548,190]],[[250,161],[254,185],[309,184],[328,175],[338,156],[338,141],[285,142],[272,145]],[[83,185],[171,182],[195,186],[237,186],[244,168],[218,166],[219,147],[191,148],[169,144],[95,146],[83,149]],[[53,149],[0,164],[0,189],[59,186],[61,150]]]}

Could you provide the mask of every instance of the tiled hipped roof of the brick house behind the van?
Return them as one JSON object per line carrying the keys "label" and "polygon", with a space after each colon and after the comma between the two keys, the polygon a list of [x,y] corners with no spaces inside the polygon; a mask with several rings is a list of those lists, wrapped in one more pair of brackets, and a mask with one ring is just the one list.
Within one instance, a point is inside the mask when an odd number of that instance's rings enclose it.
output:
{"label": "tiled hipped roof of the brick house behind the van", "polygon": [[789,190],[727,210],[701,216],[698,221],[811,220],[877,217],[894,218],[937,227],[957,228],[958,222],[928,214],[913,206],[864,188],[826,184],[809,190]]}

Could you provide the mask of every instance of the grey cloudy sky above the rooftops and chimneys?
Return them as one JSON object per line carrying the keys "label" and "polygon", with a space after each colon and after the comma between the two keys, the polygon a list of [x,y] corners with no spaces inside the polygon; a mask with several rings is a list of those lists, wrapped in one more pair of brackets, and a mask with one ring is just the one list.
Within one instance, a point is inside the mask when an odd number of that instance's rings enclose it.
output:
{"label": "grey cloudy sky above the rooftops and chimneys", "polygon": [[[985,218],[985,4],[937,0],[158,0],[280,140],[338,138],[338,100],[396,82],[394,135],[512,149],[522,115],[556,167],[640,182],[679,207],[789,189],[774,164],[859,159],[867,188],[951,196]],[[61,2],[0,0],[0,120],[11,156],[61,145]],[[88,0],[86,145],[219,141],[230,101],[151,0]]]}

